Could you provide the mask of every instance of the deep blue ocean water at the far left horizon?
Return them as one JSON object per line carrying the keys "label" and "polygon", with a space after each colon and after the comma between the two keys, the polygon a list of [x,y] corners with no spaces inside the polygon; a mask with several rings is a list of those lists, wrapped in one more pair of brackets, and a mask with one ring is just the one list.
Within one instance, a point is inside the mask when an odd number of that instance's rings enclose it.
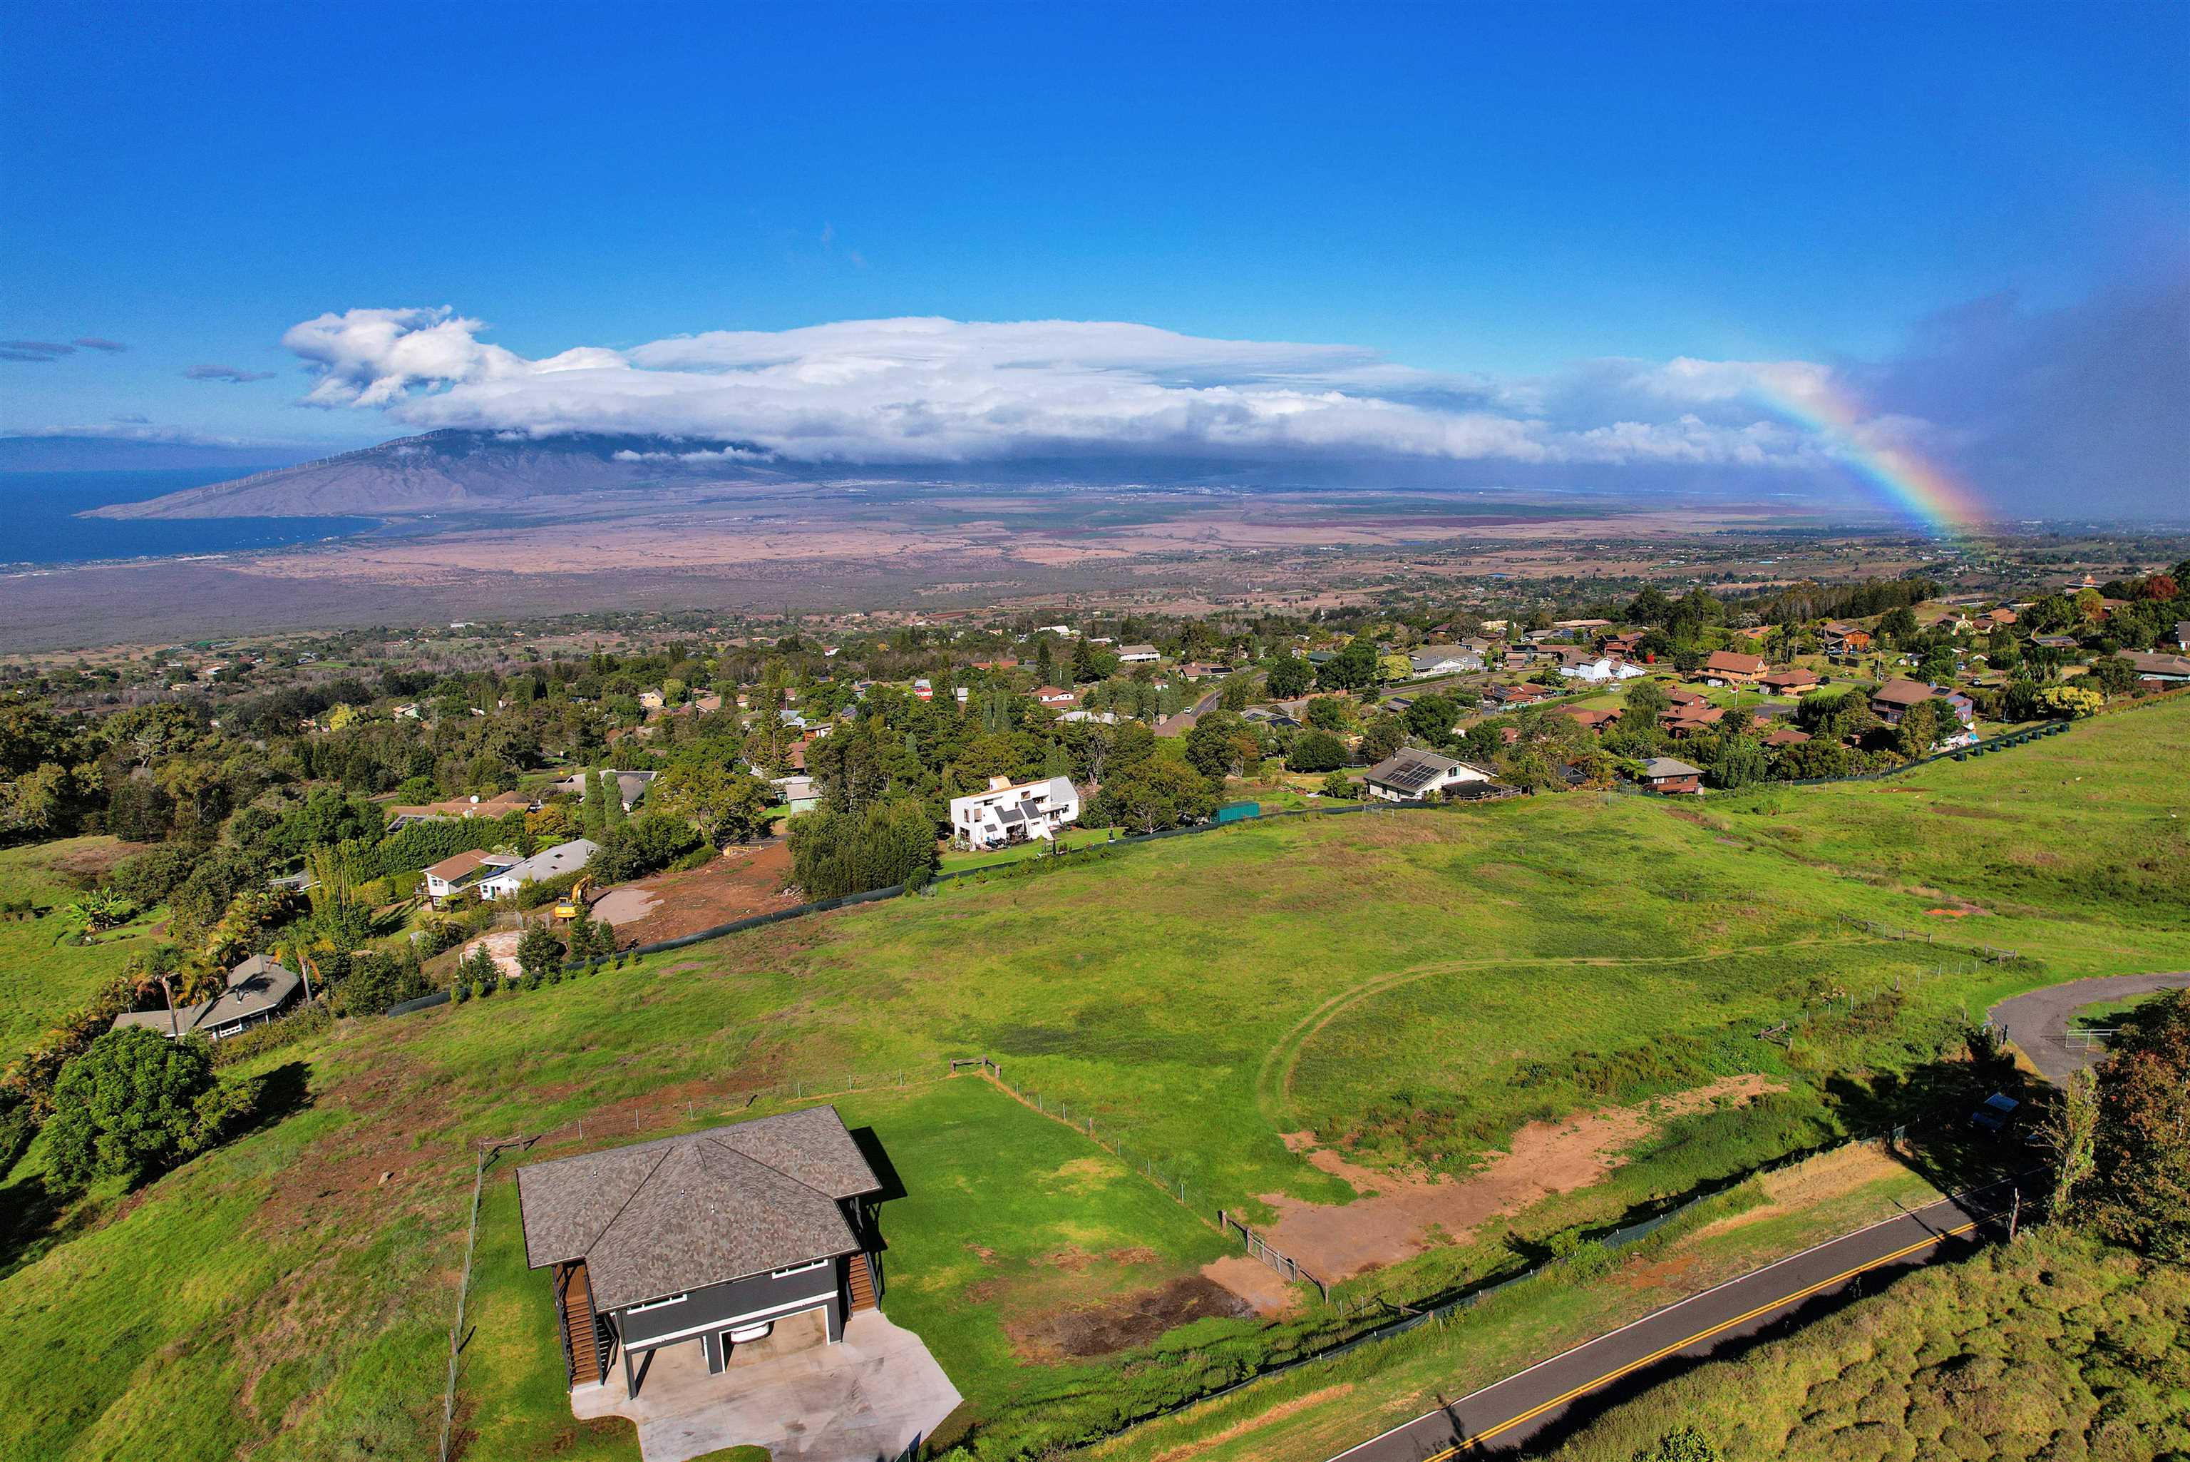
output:
{"label": "deep blue ocean water at the far left horizon", "polygon": [[232,482],[256,467],[158,471],[0,471],[0,568],[166,559],[175,555],[283,548],[350,537],[372,517],[77,517],[110,502],[142,502],[186,487]]}

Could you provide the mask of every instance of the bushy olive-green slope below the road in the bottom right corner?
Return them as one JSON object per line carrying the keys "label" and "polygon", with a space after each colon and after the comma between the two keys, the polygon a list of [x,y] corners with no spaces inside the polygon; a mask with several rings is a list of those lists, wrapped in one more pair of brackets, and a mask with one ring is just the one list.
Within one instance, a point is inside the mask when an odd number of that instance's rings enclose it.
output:
{"label": "bushy olive-green slope below the road in the bottom right corner", "polygon": [[2183,1455],[2190,1273],[2026,1232],[1660,1385],[1551,1455],[1629,1462],[1678,1427],[1726,1462]]}

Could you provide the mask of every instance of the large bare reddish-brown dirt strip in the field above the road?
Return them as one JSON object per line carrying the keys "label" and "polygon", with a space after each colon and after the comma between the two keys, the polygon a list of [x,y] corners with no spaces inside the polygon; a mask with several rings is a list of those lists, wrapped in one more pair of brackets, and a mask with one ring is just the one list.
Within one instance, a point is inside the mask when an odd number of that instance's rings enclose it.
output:
{"label": "large bare reddish-brown dirt strip in the field above the road", "polygon": [[[1724,1076],[1640,1107],[1601,1107],[1564,1122],[1529,1122],[1513,1133],[1509,1151],[1459,1181],[1378,1173],[1316,1149],[1307,1153],[1310,1164],[1369,1197],[1334,1206],[1264,1195],[1279,1214],[1264,1238],[1318,1278],[1342,1280],[1395,1265],[1432,1243],[1463,1238],[1476,1225],[1518,1214],[1555,1192],[1588,1188],[1664,1120],[1721,1098],[1739,1105],[1780,1089],[1765,1076]],[[1310,1138],[1294,1133],[1286,1142],[1303,1151]]]}

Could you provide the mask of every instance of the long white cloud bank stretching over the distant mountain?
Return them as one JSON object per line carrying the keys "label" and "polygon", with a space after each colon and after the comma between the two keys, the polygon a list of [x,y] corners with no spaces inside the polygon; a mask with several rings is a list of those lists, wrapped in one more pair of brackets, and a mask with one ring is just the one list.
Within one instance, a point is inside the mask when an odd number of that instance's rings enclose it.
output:
{"label": "long white cloud bank stretching over the distant mountain", "polygon": [[447,307],[350,309],[298,324],[283,344],[320,375],[311,406],[379,408],[416,427],[707,445],[637,454],[681,460],[1268,452],[1809,465],[1809,443],[1743,399],[1765,381],[1791,390],[1829,375],[1807,362],[1590,362],[1500,384],[1345,344],[940,318],[707,331],[526,359],[482,342],[484,329]]}

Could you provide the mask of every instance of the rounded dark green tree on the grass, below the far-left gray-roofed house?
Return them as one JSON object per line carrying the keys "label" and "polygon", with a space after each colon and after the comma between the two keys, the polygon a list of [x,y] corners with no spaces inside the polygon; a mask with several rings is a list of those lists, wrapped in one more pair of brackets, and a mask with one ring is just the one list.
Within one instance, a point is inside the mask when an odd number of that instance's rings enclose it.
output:
{"label": "rounded dark green tree on the grass, below the far-left gray-roofed house", "polygon": [[199,1037],[110,1030],[53,1087],[44,1129],[53,1175],[70,1186],[99,1177],[136,1186],[188,1155],[210,1089],[212,1054]]}

